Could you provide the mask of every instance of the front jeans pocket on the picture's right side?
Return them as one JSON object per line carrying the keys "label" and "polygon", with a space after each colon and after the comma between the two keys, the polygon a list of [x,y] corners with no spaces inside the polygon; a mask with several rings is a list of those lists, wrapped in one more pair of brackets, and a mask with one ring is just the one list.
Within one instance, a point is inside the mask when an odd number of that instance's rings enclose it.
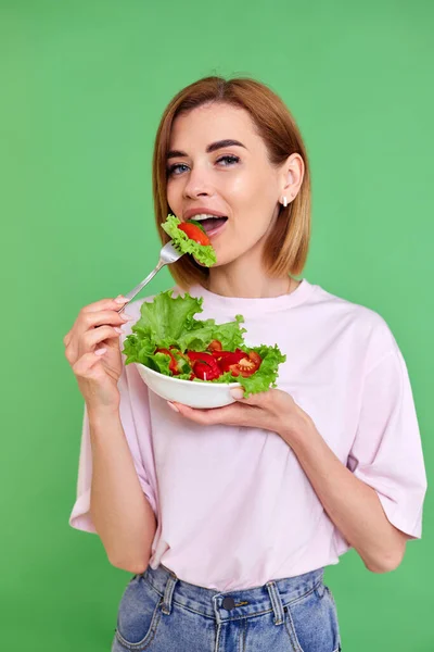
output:
{"label": "front jeans pocket on the picture's right side", "polygon": [[336,606],[321,582],[284,607],[292,652],[339,652],[341,639]]}

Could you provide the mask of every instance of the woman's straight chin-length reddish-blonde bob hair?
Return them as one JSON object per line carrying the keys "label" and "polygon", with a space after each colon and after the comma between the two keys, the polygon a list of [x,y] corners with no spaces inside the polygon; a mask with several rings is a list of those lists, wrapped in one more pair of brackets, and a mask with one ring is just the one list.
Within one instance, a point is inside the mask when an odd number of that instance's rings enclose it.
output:
{"label": "woman's straight chin-length reddish-blonde bob hair", "polygon": [[[302,186],[296,198],[286,208],[280,206],[275,228],[264,249],[264,265],[272,277],[297,275],[304,268],[310,237],[310,174],[306,149],[301,133],[288,106],[266,85],[250,78],[204,77],[180,90],[166,108],[154,145],[152,185],[155,221],[162,242],[170,238],[161,227],[170,209],[167,203],[167,152],[174,120],[192,109],[216,102],[244,109],[263,138],[271,165],[279,166],[293,153],[305,163]],[[182,289],[191,285],[206,285],[207,267],[184,255],[169,266]]]}

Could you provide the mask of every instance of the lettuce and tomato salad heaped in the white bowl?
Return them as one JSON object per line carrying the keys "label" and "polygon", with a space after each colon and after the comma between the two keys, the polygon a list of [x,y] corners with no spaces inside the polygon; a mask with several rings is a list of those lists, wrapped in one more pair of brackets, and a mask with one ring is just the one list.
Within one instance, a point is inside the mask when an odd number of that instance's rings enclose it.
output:
{"label": "lettuce and tomato salad heaped in the white bowl", "polygon": [[143,302],[124,342],[125,364],[137,362],[182,380],[240,383],[245,398],[276,387],[279,364],[286,360],[278,346],[246,347],[242,315],[226,324],[196,319],[202,303],[188,292],[174,299],[173,290]]}

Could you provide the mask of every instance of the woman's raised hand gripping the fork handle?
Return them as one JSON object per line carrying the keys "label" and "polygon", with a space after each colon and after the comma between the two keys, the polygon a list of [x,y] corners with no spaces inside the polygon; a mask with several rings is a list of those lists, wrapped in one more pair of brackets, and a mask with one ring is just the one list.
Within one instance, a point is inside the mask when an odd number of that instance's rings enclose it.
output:
{"label": "woman's raised hand gripping the fork handle", "polygon": [[66,360],[88,409],[116,410],[119,406],[117,383],[123,368],[119,326],[133,317],[117,311],[127,301],[118,297],[86,305],[63,338]]}

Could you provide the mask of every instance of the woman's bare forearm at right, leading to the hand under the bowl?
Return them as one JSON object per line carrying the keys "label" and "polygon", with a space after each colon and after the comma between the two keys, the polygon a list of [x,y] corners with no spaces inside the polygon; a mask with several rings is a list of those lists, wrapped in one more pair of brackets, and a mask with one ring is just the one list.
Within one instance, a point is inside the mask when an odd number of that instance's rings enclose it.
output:
{"label": "woman's bare forearm at right, leading to the hand under the bowl", "polygon": [[399,566],[407,535],[391,524],[375,490],[342,464],[308,415],[303,413],[296,430],[279,434],[294,451],[331,521],[367,568],[386,573]]}

